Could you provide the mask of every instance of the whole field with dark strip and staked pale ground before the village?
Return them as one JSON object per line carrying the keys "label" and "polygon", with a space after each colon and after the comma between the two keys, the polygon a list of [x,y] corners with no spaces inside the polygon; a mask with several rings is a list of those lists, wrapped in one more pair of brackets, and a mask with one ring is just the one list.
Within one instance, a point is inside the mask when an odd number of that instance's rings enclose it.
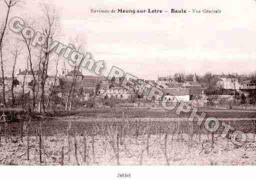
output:
{"label": "whole field with dark strip and staked pale ground before the village", "polygon": [[[235,113],[235,114],[234,114]],[[255,133],[255,112],[213,111],[220,121]],[[230,114],[230,115],[228,115]],[[161,115],[162,117],[160,117]],[[185,115],[84,110],[62,117],[1,124],[1,165],[255,165],[256,137],[243,146],[208,132]],[[149,118],[149,116],[151,116]],[[235,117],[236,116],[236,117]]]}

